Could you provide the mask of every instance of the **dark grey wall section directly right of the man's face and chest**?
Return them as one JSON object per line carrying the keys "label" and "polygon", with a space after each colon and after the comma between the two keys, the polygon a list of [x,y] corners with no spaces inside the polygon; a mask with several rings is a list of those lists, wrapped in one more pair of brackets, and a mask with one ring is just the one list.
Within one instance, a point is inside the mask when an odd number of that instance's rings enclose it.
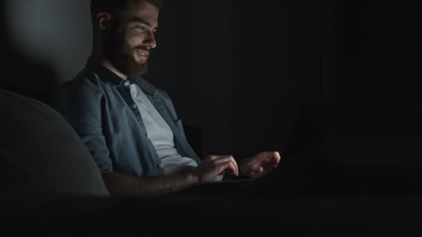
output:
{"label": "dark grey wall section directly right of the man's face and chest", "polygon": [[146,75],[173,98],[202,155],[231,152],[232,12],[231,1],[166,1]]}

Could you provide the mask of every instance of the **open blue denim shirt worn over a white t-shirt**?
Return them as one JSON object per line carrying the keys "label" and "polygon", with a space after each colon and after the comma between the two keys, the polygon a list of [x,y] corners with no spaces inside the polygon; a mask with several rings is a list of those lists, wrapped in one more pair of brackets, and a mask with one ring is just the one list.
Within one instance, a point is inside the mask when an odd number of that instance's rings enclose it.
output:
{"label": "open blue denim shirt worn over a white t-shirt", "polygon": [[76,130],[102,174],[164,175],[160,157],[130,95],[131,82],[144,91],[169,124],[179,154],[199,164],[200,159],[187,143],[182,122],[169,96],[140,77],[124,80],[101,64],[88,60],[74,80],[59,87],[51,105]]}

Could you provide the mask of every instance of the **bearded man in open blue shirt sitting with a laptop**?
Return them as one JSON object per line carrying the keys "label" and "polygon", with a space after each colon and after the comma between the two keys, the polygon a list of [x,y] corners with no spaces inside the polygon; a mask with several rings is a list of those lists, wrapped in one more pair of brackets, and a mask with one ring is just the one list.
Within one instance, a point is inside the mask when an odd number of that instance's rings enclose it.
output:
{"label": "bearded man in open blue shirt sitting with a laptop", "polygon": [[90,150],[110,195],[162,195],[219,175],[273,170],[278,152],[261,152],[240,167],[232,156],[201,161],[169,96],[140,78],[156,46],[161,6],[160,0],[92,0],[92,55],[53,100]]}

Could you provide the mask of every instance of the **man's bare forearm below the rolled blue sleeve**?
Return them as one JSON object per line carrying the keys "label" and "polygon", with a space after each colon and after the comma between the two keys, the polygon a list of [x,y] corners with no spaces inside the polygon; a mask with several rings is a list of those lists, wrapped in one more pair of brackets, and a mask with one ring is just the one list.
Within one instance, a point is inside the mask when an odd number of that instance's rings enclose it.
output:
{"label": "man's bare forearm below the rolled blue sleeve", "polygon": [[185,190],[198,182],[198,179],[189,173],[162,177],[133,177],[121,173],[108,173],[103,175],[103,180],[112,197],[165,195]]}

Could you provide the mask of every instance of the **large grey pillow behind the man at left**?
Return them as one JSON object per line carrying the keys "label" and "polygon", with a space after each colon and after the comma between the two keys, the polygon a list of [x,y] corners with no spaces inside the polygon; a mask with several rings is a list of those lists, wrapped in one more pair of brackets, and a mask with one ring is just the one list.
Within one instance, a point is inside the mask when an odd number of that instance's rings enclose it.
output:
{"label": "large grey pillow behind the man at left", "polygon": [[108,197],[78,134],[54,109],[0,89],[0,189]]}

